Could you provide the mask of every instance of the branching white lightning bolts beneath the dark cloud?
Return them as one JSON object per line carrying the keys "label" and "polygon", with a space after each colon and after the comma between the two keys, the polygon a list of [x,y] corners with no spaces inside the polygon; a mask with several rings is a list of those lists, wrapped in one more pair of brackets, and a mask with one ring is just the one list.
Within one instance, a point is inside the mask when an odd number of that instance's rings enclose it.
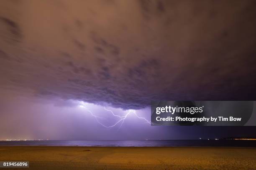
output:
{"label": "branching white lightning bolts beneath the dark cloud", "polygon": [[126,113],[124,116],[120,116],[120,115],[115,115],[115,113],[114,113],[112,110],[109,110],[109,109],[107,109],[106,107],[104,107],[104,110],[110,112],[114,117],[118,117],[118,118],[119,118],[119,120],[118,120],[117,122],[115,122],[113,125],[107,126],[107,125],[104,125],[103,123],[101,123],[100,120],[99,120],[99,119],[104,119],[104,118],[103,118],[103,117],[99,117],[99,116],[93,114],[93,112],[90,111],[90,110],[85,106],[85,103],[84,103],[84,102],[81,102],[81,104],[79,105],[79,107],[84,108],[84,109],[85,109],[87,112],[89,112],[93,117],[95,117],[96,121],[97,121],[100,125],[102,125],[104,128],[107,128],[107,129],[113,128],[113,127],[117,126],[118,123],[121,122],[121,123],[120,123],[120,126],[119,126],[119,128],[118,128],[118,130],[119,130],[119,129],[122,127],[124,120],[125,120],[125,119],[127,118],[127,116],[130,115],[131,113],[133,113],[134,115],[136,115],[136,117],[137,117],[138,119],[145,120],[148,124],[151,124],[151,122],[148,121],[145,117],[140,117],[140,116],[138,116],[137,113],[136,113],[136,110],[128,110],[127,113]]}

